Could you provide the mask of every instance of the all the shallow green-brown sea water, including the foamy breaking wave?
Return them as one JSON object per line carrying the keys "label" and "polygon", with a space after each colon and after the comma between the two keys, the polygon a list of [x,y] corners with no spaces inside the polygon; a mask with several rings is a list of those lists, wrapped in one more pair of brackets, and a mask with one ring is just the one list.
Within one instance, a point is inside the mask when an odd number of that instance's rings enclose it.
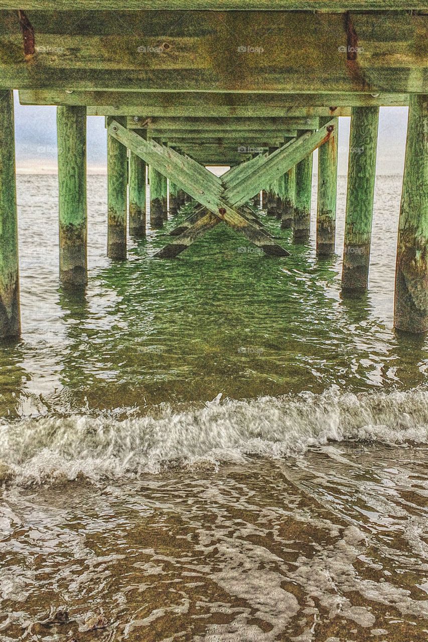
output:
{"label": "all the shallow green-brown sea water, including the foamy breaking wave", "polygon": [[159,261],[168,223],[112,263],[105,182],[89,177],[89,284],[70,295],[57,179],[19,177],[1,641],[425,640],[428,343],[392,329],[400,178],[377,180],[359,299],[314,239],[265,258],[218,227]]}

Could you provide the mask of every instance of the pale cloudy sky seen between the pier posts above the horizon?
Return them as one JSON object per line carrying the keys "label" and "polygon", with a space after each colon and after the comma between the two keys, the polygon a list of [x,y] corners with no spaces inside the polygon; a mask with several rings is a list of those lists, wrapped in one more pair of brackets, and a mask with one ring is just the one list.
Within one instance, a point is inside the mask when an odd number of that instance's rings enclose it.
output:
{"label": "pale cloudy sky seen between the pier posts above the horizon", "polygon": [[[56,107],[20,105],[15,92],[15,141],[19,173],[56,173]],[[346,175],[350,118],[339,119],[339,174]],[[407,107],[381,107],[377,174],[401,174],[406,148]],[[105,173],[107,135],[102,116],[87,117],[89,173]],[[244,141],[242,141],[244,142]],[[315,159],[316,160],[316,159]],[[316,172],[316,162],[314,162]]]}

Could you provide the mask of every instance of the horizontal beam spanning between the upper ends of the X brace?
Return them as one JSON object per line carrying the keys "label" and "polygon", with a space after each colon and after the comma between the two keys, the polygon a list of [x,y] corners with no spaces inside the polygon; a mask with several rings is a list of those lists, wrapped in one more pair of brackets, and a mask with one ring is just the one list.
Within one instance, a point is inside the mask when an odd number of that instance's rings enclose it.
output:
{"label": "horizontal beam spanning between the upper ends of the X brace", "polygon": [[128,129],[144,129],[150,134],[153,130],[160,132],[162,130],[185,132],[199,131],[208,132],[210,130],[245,132],[246,130],[263,131],[282,131],[293,129],[316,129],[319,125],[319,118],[135,118],[127,119]]}

